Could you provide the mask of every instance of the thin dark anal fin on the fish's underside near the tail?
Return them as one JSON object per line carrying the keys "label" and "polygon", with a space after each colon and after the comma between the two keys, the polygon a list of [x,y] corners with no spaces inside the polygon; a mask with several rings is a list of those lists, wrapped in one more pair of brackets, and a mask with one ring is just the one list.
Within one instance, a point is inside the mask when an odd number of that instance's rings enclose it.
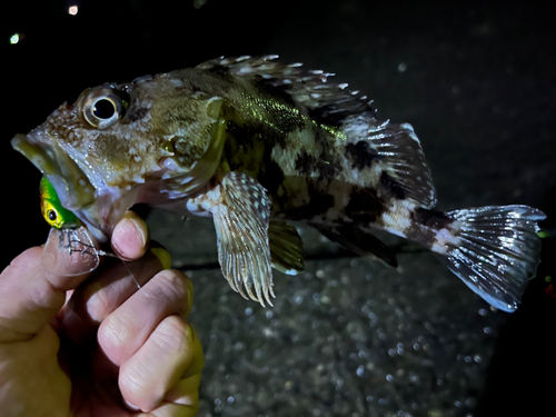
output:
{"label": "thin dark anal fin on the fish's underside near the tail", "polygon": [[356,255],[381,260],[393,268],[398,266],[396,255],[386,244],[359,228],[349,226],[324,228],[319,226],[317,229],[328,239],[340,244]]}

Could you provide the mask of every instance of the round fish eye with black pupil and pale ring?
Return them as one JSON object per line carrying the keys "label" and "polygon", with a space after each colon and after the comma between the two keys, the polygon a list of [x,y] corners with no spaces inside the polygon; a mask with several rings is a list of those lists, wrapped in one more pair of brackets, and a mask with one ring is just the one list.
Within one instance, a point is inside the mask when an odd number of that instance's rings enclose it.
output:
{"label": "round fish eye with black pupil and pale ring", "polygon": [[106,129],[126,113],[128,102],[122,92],[108,87],[90,90],[81,106],[85,119],[95,128]]}

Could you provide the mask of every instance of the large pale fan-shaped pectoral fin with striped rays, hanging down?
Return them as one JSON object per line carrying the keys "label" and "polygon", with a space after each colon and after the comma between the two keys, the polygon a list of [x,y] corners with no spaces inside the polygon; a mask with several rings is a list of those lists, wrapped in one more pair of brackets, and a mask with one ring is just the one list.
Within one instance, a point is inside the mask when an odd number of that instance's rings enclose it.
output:
{"label": "large pale fan-shaped pectoral fin with striped rays, hanging down", "polygon": [[[217,192],[211,191],[211,192]],[[210,211],[218,238],[218,260],[235,291],[265,307],[272,306],[272,272],[268,226],[270,200],[265,188],[240,172],[228,172],[219,203]]]}

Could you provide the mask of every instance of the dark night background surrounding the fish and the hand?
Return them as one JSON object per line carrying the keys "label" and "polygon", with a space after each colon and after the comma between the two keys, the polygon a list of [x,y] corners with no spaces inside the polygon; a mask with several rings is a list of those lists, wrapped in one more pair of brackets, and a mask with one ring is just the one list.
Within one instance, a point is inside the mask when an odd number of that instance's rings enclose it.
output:
{"label": "dark night background surrounding the fish and the hand", "polygon": [[[79,13],[69,16],[73,3]],[[16,133],[87,87],[218,56],[277,53],[285,62],[335,72],[338,82],[373,98],[381,118],[414,126],[439,209],[526,203],[548,215],[543,227],[556,226],[556,38],[552,14],[539,3],[208,0],[196,9],[192,1],[170,0],[20,1],[3,6],[0,30],[2,267],[48,232],[38,205],[40,173],[11,149]],[[16,32],[24,39],[12,46]],[[219,278],[214,241],[207,254],[198,249],[210,228],[188,225],[185,241],[165,231],[176,229],[171,221],[160,214],[149,218],[153,236],[196,285],[192,321],[207,353],[200,416],[554,413],[556,299],[547,278],[556,279],[554,238],[544,239],[543,264],[519,310],[506,315],[492,311],[427,254],[397,246],[401,269],[384,271],[307,231],[306,279],[277,278],[284,300],[269,318],[269,310],[231,294]],[[322,301],[329,282],[340,288],[332,308]],[[304,288],[312,296],[302,296]],[[349,309],[353,316],[339,308],[340,299],[359,306]],[[358,340],[354,335],[366,335],[369,318],[368,332],[378,337]],[[390,318],[396,326],[388,327]],[[311,322],[321,330],[311,330]],[[264,341],[272,331],[277,339]],[[311,331],[306,341],[299,336]],[[332,332],[336,339],[326,336]],[[430,346],[426,355],[399,354],[396,344],[414,345],[419,336]],[[390,337],[398,356],[387,346]],[[327,348],[334,354],[327,356]],[[354,358],[351,350],[368,354]],[[312,360],[317,351],[325,356]],[[361,355],[365,371],[355,377]],[[260,361],[274,364],[269,373]]]}

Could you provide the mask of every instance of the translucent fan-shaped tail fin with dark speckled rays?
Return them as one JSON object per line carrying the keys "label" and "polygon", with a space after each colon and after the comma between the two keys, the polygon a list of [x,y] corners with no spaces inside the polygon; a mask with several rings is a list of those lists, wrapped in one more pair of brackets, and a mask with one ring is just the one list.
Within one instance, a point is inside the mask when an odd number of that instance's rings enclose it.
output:
{"label": "translucent fan-shaped tail fin with dark speckled rays", "polygon": [[546,218],[527,206],[480,207],[446,214],[456,239],[435,254],[470,289],[494,307],[513,312],[540,261],[537,222]]}

